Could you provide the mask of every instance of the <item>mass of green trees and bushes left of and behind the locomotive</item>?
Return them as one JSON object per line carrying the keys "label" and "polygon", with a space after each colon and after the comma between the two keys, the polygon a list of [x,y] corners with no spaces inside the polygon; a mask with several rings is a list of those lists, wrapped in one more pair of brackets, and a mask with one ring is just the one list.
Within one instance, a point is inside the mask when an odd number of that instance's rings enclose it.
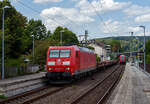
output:
{"label": "mass of green trees and bushes left of and behind the locomotive", "polygon": [[[25,16],[16,11],[9,0],[0,1],[0,18],[2,18],[2,8],[7,5],[10,9],[5,9],[5,66],[16,66],[25,68],[25,58],[30,59],[32,64],[39,64],[43,69],[46,64],[46,53],[49,46],[60,45],[60,31],[62,33],[63,44],[78,44],[76,34],[67,28],[57,27],[54,33],[47,31],[41,20],[27,20]],[[0,34],[2,34],[2,19],[0,19]],[[34,38],[32,37],[34,36]],[[33,63],[32,45],[35,41],[35,57]],[[2,35],[0,36],[0,57],[2,49]],[[0,60],[1,61],[1,60]],[[24,72],[18,70],[18,74]]]}

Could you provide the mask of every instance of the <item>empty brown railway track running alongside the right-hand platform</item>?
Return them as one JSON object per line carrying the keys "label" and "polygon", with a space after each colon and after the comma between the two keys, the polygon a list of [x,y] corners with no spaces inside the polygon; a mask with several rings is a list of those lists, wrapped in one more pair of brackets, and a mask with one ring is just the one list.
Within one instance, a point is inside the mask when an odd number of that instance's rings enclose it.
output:
{"label": "empty brown railway track running alongside the right-hand platform", "polygon": [[124,68],[124,65],[118,66],[103,80],[95,83],[95,85],[93,85],[88,91],[72,101],[71,104],[102,104],[113,86],[120,79],[120,75],[123,73]]}

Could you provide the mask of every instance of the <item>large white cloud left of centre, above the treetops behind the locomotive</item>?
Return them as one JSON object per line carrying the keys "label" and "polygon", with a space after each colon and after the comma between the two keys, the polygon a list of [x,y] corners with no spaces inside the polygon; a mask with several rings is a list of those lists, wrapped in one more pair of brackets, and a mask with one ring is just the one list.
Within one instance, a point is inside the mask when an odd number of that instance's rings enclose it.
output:
{"label": "large white cloud left of centre, above the treetops behind the locomotive", "polygon": [[[93,22],[94,19],[81,14],[77,9],[75,8],[60,8],[60,7],[52,7],[49,9],[44,9],[41,12],[41,17],[45,18],[46,24],[51,26],[51,28],[56,28],[59,26],[59,23],[62,23],[64,25],[80,25],[84,23],[90,23]],[[55,21],[59,23],[54,23],[54,21],[50,20],[49,18],[55,19]],[[54,23],[54,24],[53,24]],[[51,29],[50,28],[50,29]]]}

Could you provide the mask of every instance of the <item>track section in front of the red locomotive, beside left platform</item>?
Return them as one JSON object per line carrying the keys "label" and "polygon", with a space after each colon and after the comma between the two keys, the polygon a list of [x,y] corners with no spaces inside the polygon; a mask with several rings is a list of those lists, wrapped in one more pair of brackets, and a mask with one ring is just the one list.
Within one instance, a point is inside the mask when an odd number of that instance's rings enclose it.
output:
{"label": "track section in front of the red locomotive, beside left platform", "polygon": [[0,101],[0,104],[31,104],[33,101],[57,93],[65,88],[67,88],[67,86],[52,87],[47,85],[32,91],[9,97],[6,100]]}

